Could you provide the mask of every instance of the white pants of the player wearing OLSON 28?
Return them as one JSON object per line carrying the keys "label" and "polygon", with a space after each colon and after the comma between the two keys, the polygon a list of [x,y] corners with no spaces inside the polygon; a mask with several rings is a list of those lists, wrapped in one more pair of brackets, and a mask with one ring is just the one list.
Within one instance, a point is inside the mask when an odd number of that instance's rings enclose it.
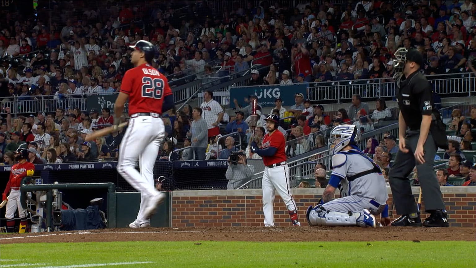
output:
{"label": "white pants of the player wearing OLSON 28", "polygon": [[[130,186],[140,192],[138,222],[149,221],[143,210],[150,197],[158,194],[154,186],[154,164],[164,138],[165,127],[162,119],[138,116],[130,119],[119,147],[117,170]],[[137,161],[140,173],[136,169]]]}

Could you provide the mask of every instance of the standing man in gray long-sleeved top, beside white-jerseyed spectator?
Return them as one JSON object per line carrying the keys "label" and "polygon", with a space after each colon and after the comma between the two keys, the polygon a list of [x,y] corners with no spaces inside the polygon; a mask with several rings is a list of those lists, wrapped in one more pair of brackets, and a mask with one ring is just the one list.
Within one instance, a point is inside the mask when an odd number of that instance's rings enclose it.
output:
{"label": "standing man in gray long-sleeved top, beside white-jerseyed spectator", "polygon": [[202,118],[202,109],[196,107],[192,112],[193,121],[187,137],[191,140],[192,149],[195,151],[195,159],[205,159],[205,151],[207,150],[208,125]]}

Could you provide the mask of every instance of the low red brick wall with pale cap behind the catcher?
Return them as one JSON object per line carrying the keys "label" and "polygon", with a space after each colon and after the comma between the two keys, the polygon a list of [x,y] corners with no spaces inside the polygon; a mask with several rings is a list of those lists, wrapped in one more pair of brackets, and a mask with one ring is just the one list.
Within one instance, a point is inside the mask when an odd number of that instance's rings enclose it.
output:
{"label": "low red brick wall with pale cap behind the catcher", "polygon": [[[315,205],[323,189],[292,189],[302,225],[307,225],[306,209]],[[418,198],[419,188],[413,193]],[[443,198],[452,227],[476,227],[476,187],[443,187]],[[391,206],[392,197],[388,189]],[[336,196],[337,197],[337,196]],[[422,200],[422,211],[425,203]],[[422,214],[422,219],[427,214]],[[393,218],[397,212],[393,211]],[[291,221],[283,201],[277,195],[274,202],[276,226],[290,226]],[[172,227],[226,227],[263,226],[264,216],[260,189],[249,190],[200,190],[172,193]]]}

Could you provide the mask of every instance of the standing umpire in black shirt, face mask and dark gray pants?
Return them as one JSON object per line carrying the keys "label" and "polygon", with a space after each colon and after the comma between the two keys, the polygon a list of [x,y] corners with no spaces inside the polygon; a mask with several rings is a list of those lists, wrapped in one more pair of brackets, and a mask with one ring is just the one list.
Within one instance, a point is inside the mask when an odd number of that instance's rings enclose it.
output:
{"label": "standing umpire in black shirt, face mask and dark gray pants", "polygon": [[[445,203],[433,170],[436,154],[434,136],[430,132],[433,103],[431,85],[419,72],[423,56],[416,49],[409,50],[400,59],[403,73],[397,77],[397,102],[399,150],[394,165],[388,173],[393,202],[397,214],[392,226],[422,226],[417,214],[415,197],[407,176],[417,165],[418,179],[430,216],[423,221],[424,227],[448,227]],[[437,113],[437,112],[436,112]],[[432,128],[433,129],[433,128]],[[436,132],[436,131],[435,131]]]}

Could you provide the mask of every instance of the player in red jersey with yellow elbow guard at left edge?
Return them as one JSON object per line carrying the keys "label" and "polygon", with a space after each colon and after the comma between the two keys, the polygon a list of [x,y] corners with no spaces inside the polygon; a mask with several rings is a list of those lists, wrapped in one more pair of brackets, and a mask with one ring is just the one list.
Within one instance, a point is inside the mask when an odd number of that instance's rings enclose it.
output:
{"label": "player in red jersey with yellow elbow guard at left edge", "polygon": [[[24,233],[27,227],[27,215],[20,203],[20,184],[24,177],[32,176],[35,173],[35,165],[27,162],[28,153],[29,151],[23,148],[18,148],[15,152],[15,160],[18,160],[18,163],[11,167],[10,179],[2,194],[2,200],[8,200],[5,217],[7,218],[7,232],[9,233],[13,233],[15,227],[14,216],[17,209],[20,216],[19,233]],[[8,195],[9,193],[10,195]]]}

